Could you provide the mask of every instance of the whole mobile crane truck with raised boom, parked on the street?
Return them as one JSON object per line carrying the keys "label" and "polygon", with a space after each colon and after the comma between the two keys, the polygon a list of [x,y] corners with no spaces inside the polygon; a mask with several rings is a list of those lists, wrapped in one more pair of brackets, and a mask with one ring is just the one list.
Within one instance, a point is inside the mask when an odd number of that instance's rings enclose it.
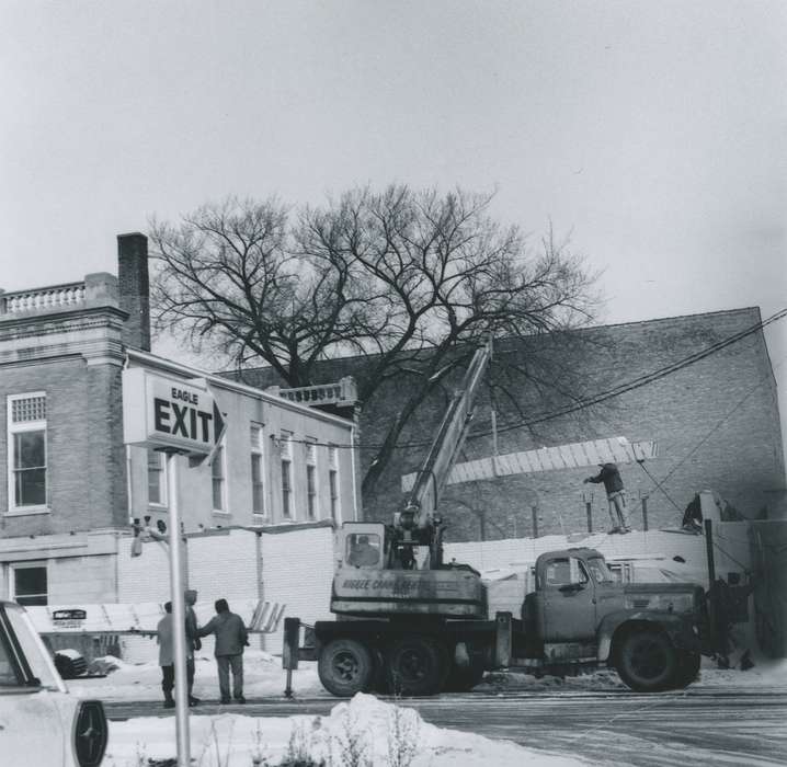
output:
{"label": "whole mobile crane truck with raised boom, parked on the street", "polygon": [[484,672],[510,667],[563,675],[607,666],[640,692],[685,687],[700,654],[712,652],[700,585],[621,584],[598,551],[570,548],[538,557],[520,615],[490,617],[480,573],[443,561],[437,501],[490,357],[491,342],[475,353],[392,524],[338,531],[337,620],[309,627],[300,646],[301,623],[286,618],[285,668],[316,660],[323,687],[339,697],[468,690]]}

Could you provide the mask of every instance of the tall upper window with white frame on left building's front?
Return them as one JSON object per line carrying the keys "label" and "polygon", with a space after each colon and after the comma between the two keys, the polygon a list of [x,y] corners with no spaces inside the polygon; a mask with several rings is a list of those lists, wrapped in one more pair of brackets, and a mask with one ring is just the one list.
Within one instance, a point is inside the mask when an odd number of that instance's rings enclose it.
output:
{"label": "tall upper window with white frame on left building's front", "polygon": [[46,392],[8,398],[9,511],[47,507]]}

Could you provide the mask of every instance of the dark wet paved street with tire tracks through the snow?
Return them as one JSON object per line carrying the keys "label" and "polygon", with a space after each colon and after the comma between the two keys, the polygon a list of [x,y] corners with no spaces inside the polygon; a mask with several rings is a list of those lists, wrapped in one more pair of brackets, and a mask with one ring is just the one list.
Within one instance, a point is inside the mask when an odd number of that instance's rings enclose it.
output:
{"label": "dark wet paved street with tire tracks through the snow", "polygon": [[[232,711],[261,717],[326,714],[335,698],[204,701],[194,713]],[[591,764],[718,767],[787,764],[787,690],[688,688],[680,692],[538,691],[407,698],[423,719],[544,752],[569,752]],[[172,716],[158,703],[106,703],[111,719]]]}

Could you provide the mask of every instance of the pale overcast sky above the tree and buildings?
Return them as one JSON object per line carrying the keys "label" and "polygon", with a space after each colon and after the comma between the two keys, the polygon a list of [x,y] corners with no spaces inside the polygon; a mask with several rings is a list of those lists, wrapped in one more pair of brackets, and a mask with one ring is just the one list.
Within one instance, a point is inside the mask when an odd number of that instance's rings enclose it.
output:
{"label": "pale overcast sky above the tree and buildings", "polygon": [[0,0],[0,287],[115,273],[117,233],[229,194],[398,181],[571,232],[604,322],[767,318],[785,51],[785,0]]}

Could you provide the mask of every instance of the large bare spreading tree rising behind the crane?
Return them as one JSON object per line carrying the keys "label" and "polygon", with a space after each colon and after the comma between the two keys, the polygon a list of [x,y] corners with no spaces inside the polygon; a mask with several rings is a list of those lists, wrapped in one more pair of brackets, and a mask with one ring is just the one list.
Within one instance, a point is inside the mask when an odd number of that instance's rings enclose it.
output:
{"label": "large bare spreading tree rising behind the crane", "polygon": [[490,215],[491,195],[356,188],[321,207],[228,199],[179,226],[153,221],[159,328],[208,341],[289,386],[326,358],[365,355],[358,394],[394,378],[408,398],[364,478],[375,483],[418,405],[490,334],[588,323],[594,276],[551,229],[531,249]]}

